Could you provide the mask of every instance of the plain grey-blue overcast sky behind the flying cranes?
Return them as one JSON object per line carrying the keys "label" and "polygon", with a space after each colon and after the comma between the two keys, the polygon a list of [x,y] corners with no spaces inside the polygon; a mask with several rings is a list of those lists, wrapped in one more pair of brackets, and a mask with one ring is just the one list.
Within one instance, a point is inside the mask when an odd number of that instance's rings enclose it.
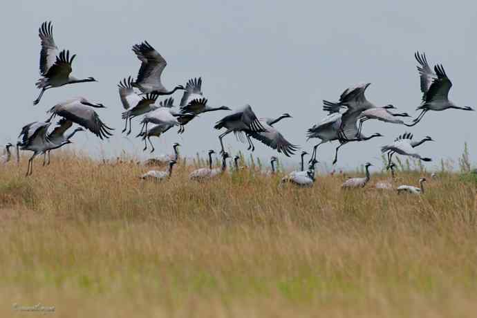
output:
{"label": "plain grey-blue overcast sky behind the flying cranes", "polygon": [[[131,46],[144,39],[167,59],[162,74],[167,88],[201,76],[211,104],[251,104],[265,117],[290,113],[293,118],[276,127],[307,150],[319,142],[306,142],[305,132],[326,115],[322,100],[337,100],[358,82],[372,83],[366,91],[371,102],[391,103],[417,115],[422,95],[415,50],[425,51],[430,64],[445,66],[453,82],[451,100],[477,104],[477,10],[468,1],[9,1],[0,15],[3,142],[15,142],[24,124],[44,120],[55,103],[83,95],[108,107],[98,112],[116,134],[101,142],[91,133],[79,133],[75,147],[95,156],[117,156],[122,150],[144,156],[139,139],[120,134],[122,106],[116,86],[123,77],[137,74],[140,62]],[[39,93],[37,30],[46,20],[53,21],[57,46],[77,54],[73,75],[99,82],[52,89],[33,106]],[[180,96],[174,95],[176,102]],[[170,153],[173,142],[183,144],[181,150],[189,156],[218,149],[219,132],[213,125],[226,114],[207,113],[188,124],[181,136],[174,129],[153,138],[156,153]],[[477,112],[429,112],[407,130],[415,138],[431,135],[437,141],[420,148],[435,160],[427,165],[433,167],[440,158],[457,158],[465,141],[471,155],[476,153],[476,120]],[[138,131],[138,119],[133,124]],[[379,163],[380,146],[405,128],[366,122],[365,134],[385,137],[347,144],[338,165]],[[224,140],[234,151],[246,149],[232,134]],[[320,147],[321,162],[333,160],[335,143]],[[275,154],[258,141],[255,153],[263,158]]]}

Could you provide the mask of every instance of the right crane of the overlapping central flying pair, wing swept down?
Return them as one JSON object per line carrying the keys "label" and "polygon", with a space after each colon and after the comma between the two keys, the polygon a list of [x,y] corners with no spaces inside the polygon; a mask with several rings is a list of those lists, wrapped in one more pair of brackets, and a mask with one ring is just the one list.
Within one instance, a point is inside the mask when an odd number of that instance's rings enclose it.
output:
{"label": "right crane of the overlapping central flying pair, wing swept down", "polygon": [[265,131],[247,131],[245,130],[245,136],[247,137],[247,142],[249,144],[248,150],[252,149],[254,151],[255,147],[250,140],[250,137],[261,141],[263,144],[266,144],[272,149],[276,149],[279,153],[283,153],[285,156],[290,157],[294,154],[294,151],[297,151],[298,146],[291,144],[286,140],[283,135],[272,125],[276,122],[279,122],[283,118],[291,118],[292,116],[288,113],[284,113],[278,118],[259,118],[261,126]]}

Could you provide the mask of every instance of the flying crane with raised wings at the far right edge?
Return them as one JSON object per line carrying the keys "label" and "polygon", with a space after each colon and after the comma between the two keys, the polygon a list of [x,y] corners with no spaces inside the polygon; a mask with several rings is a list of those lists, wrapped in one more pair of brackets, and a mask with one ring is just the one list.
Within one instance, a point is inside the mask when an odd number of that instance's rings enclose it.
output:
{"label": "flying crane with raised wings at the far right edge", "polygon": [[427,63],[425,53],[420,54],[416,52],[414,57],[419,63],[417,67],[420,76],[422,102],[417,108],[417,110],[421,110],[421,113],[413,120],[413,125],[420,122],[427,111],[444,111],[445,109],[460,109],[462,111],[475,110],[469,106],[457,106],[449,100],[449,91],[452,87],[452,82],[449,77],[447,77],[442,64],[434,66],[433,72]]}

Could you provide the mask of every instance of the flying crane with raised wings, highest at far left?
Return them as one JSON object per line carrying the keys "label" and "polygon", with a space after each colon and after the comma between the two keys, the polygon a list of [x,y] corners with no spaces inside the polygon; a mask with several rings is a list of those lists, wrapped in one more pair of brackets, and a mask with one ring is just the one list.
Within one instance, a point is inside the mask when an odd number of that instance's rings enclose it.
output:
{"label": "flying crane with raised wings, highest at far left", "polygon": [[53,39],[53,24],[51,24],[51,21],[45,21],[41,24],[38,32],[41,39],[39,59],[41,78],[38,79],[36,86],[41,91],[33,104],[37,105],[41,100],[41,96],[50,88],[67,84],[97,82],[94,77],[77,79],[71,75],[73,59],[75,59],[76,55],[70,57],[69,50],[62,50],[58,55],[58,47]]}

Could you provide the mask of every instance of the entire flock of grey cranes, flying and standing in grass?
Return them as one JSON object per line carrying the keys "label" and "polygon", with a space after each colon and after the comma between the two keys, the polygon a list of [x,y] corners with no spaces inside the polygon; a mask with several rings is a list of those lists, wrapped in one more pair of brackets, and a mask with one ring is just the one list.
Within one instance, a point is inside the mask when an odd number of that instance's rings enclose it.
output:
{"label": "entire flock of grey cranes, flying and standing in grass", "polygon": [[[40,93],[34,104],[41,102],[41,97],[50,88],[58,88],[68,84],[77,84],[82,82],[96,82],[94,77],[86,77],[77,79],[73,77],[73,61],[76,55],[71,54],[69,50],[59,50],[53,38],[53,24],[44,22],[39,28],[39,37],[41,40],[41,50],[39,58],[40,79],[36,86],[40,89]],[[140,61],[138,75],[133,77],[124,77],[118,84],[118,93],[120,102],[124,107],[122,112],[122,120],[124,120],[124,129],[122,133],[126,135],[133,131],[133,120],[140,117],[141,129],[136,137],[142,138],[144,141],[144,151],[150,147],[150,151],[155,151],[151,137],[160,138],[171,128],[178,127],[178,133],[185,131],[185,126],[199,115],[212,111],[232,111],[228,106],[210,105],[207,98],[203,94],[203,80],[201,77],[189,79],[185,85],[178,84],[172,89],[167,89],[162,85],[162,72],[167,66],[167,62],[153,48],[148,41],[132,46],[132,51]],[[318,148],[326,142],[337,141],[339,144],[335,150],[335,158],[333,165],[338,160],[338,152],[341,147],[348,142],[364,142],[372,138],[383,137],[381,133],[372,133],[366,135],[362,133],[364,122],[368,120],[380,120],[392,124],[400,124],[406,127],[413,127],[418,124],[428,111],[444,111],[446,109],[460,109],[463,111],[474,111],[469,106],[458,106],[449,100],[449,90],[452,86],[451,80],[447,77],[444,67],[437,64],[433,68],[429,66],[427,57],[424,53],[415,53],[415,59],[418,62],[418,73],[420,76],[420,89],[422,91],[422,102],[418,106],[421,113],[411,122],[406,122],[405,118],[411,116],[406,113],[393,112],[396,108],[392,104],[377,106],[373,102],[368,101],[365,96],[366,89],[371,83],[358,84],[346,88],[339,96],[337,102],[324,100],[324,111],[328,115],[321,122],[313,125],[308,129],[306,136],[309,139],[317,138],[319,142],[312,147],[311,158],[306,167],[303,157],[308,154],[306,151],[301,153],[301,170],[293,171],[283,178],[283,183],[294,183],[302,186],[310,186],[315,182],[315,165],[317,164]],[[174,104],[174,97],[171,97],[176,91],[182,92],[179,104]],[[158,99],[161,96],[167,96],[165,100]],[[78,131],[91,131],[98,138],[109,138],[113,135],[113,128],[109,127],[100,118],[97,113],[100,109],[105,108],[101,103],[91,102],[85,97],[75,97],[71,100],[59,102],[51,107],[48,111],[50,117],[43,122],[32,122],[26,124],[19,134],[17,142],[17,159],[19,160],[19,151],[32,151],[32,156],[28,160],[28,170],[26,175],[32,174],[33,160],[35,157],[43,154],[44,165],[50,162],[50,151],[63,147],[65,144],[71,143],[75,133]],[[54,126],[52,121],[55,117],[60,120]],[[218,141],[221,146],[222,166],[219,168],[212,167],[212,155],[214,150],[210,150],[209,165],[193,171],[190,175],[192,180],[205,180],[214,178],[223,174],[227,169],[227,158],[230,155],[225,151],[223,138],[230,133],[234,133],[236,138],[241,142],[247,142],[248,150],[254,151],[255,145],[253,140],[259,140],[266,146],[283,153],[285,156],[292,156],[299,147],[289,142],[283,134],[275,128],[275,124],[285,118],[292,118],[288,113],[284,113],[277,118],[259,118],[252,106],[245,106],[235,109],[232,113],[225,115],[214,125],[214,129],[223,130],[218,135]],[[67,133],[73,124],[78,127],[73,129],[71,133]],[[414,141],[411,133],[403,133],[398,136],[394,142],[387,144],[381,148],[388,158],[388,169],[394,176],[393,155],[409,156],[422,160],[424,162],[431,161],[431,158],[424,157],[418,153],[416,147],[424,142],[433,141],[431,137],[426,136],[420,141]],[[148,144],[149,143],[149,144]],[[11,158],[10,147],[6,145],[6,154],[0,157],[1,162],[6,163]],[[150,159],[147,165],[158,165],[160,163],[168,163],[167,171],[149,171],[141,178],[156,178],[162,180],[169,178],[176,162],[178,161],[177,148],[180,145],[174,144],[174,155],[167,155]],[[48,156],[48,160],[47,160]],[[273,174],[275,171],[274,162],[277,161],[275,156],[272,157],[271,167]],[[370,180],[369,168],[372,166],[370,162],[366,162],[366,176],[364,178],[350,178],[342,185],[343,188],[364,187]],[[234,157],[234,167],[238,167],[238,157]],[[306,169],[305,169],[306,168]],[[425,179],[420,180],[420,188],[411,186],[398,187],[398,191],[409,191],[411,193],[423,193],[422,183]],[[380,189],[392,189],[391,183],[378,183]]]}

